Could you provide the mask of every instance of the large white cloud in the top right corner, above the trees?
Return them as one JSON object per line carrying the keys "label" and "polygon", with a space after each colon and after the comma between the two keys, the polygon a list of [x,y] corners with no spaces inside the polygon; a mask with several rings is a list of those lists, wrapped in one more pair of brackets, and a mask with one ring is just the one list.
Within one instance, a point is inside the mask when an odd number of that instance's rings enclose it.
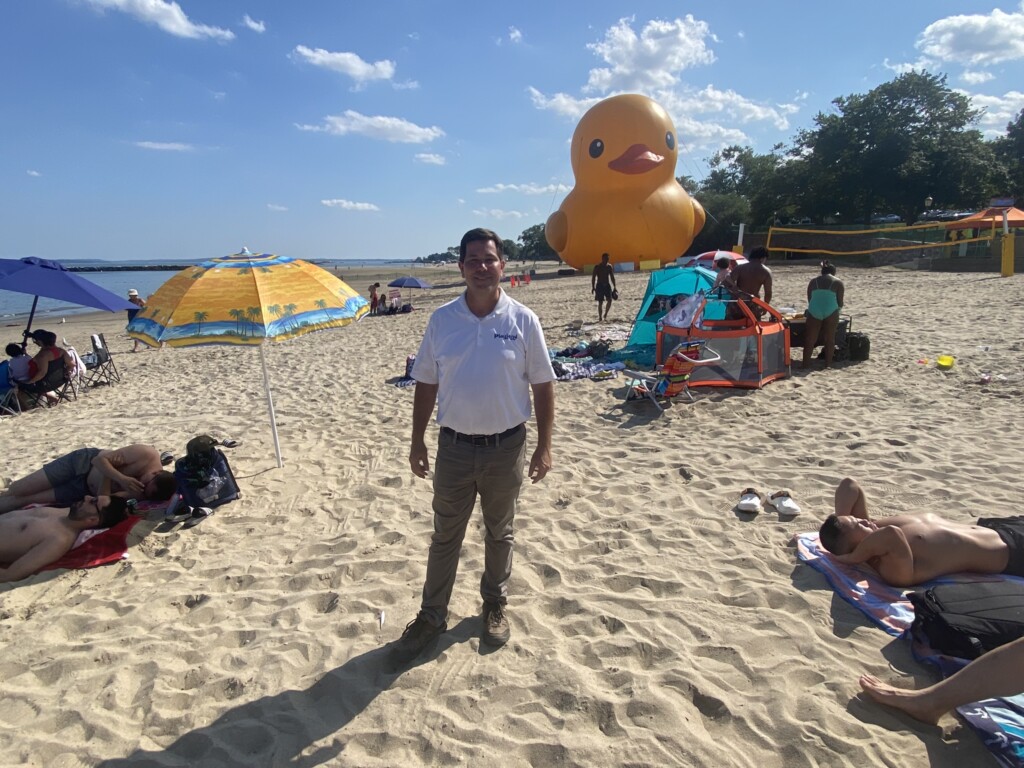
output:
{"label": "large white cloud in the top right corner, above the trees", "polygon": [[1006,13],[955,15],[930,24],[916,48],[927,56],[966,67],[989,67],[1024,58],[1024,4]]}

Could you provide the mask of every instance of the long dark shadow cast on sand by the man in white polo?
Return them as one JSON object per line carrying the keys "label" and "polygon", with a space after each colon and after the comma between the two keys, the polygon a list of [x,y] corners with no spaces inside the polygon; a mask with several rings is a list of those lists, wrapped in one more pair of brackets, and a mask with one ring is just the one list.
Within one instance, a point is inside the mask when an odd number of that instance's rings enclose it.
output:
{"label": "long dark shadow cast on sand by the man in white polo", "polygon": [[[228,710],[210,725],[182,734],[161,751],[136,750],[104,760],[101,768],[138,766],[288,765],[312,768],[338,757],[345,744],[336,739],[310,755],[315,741],[336,734],[402,673],[429,664],[458,643],[479,634],[480,617],[463,618],[442,634],[434,647],[408,665],[392,668],[388,646],[348,659],[306,690],[287,690]],[[489,652],[482,646],[481,653]]]}

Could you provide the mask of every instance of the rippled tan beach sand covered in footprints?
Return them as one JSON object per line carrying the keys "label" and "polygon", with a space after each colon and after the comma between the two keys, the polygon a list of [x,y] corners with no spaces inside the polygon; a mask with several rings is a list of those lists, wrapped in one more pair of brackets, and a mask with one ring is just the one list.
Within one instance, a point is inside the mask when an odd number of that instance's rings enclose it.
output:
{"label": "rippled tan beach sand covered in footprints", "polygon": [[[802,309],[815,273],[776,267],[773,303]],[[432,521],[408,462],[413,389],[393,382],[459,289],[266,349],[283,469],[256,350],[133,354],[123,313],[53,326],[80,352],[103,332],[122,381],[0,419],[0,485],[76,447],[180,456],[209,433],[239,441],[225,453],[243,497],[189,530],[140,523],[117,564],[0,586],[0,765],[989,764],[954,718],[928,727],[861,698],[864,672],[937,678],[790,541],[846,475],[880,515],[1019,513],[1024,278],[839,276],[867,361],[804,372],[794,350],[788,379],[697,389],[660,415],[624,406],[621,376],[559,382],[555,466],[520,498],[511,641],[478,640],[476,514],[450,630],[400,674],[382,648],[419,607]],[[562,348],[581,323],[583,338],[629,329],[647,275],[617,281],[604,326],[589,278],[508,290]],[[802,514],[737,514],[748,485],[792,488]]]}

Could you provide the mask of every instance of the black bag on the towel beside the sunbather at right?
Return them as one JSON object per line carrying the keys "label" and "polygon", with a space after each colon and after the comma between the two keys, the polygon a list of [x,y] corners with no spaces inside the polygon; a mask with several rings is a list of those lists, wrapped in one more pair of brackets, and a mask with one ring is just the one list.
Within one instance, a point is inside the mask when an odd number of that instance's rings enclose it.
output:
{"label": "black bag on the towel beside the sunbather at right", "polygon": [[983,653],[1024,637],[1024,586],[1019,582],[942,584],[910,592],[911,633],[957,658]]}

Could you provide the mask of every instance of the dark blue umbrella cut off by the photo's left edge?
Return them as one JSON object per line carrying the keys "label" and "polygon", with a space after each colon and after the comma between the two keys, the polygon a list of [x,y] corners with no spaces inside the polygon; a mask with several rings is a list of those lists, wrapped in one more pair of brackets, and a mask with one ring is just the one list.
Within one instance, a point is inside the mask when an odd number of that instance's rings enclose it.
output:
{"label": "dark blue umbrella cut off by the photo's left edge", "polygon": [[32,318],[40,296],[117,312],[135,309],[135,305],[95,283],[80,278],[59,261],[37,259],[0,259],[0,290],[34,296],[26,333],[32,330]]}

